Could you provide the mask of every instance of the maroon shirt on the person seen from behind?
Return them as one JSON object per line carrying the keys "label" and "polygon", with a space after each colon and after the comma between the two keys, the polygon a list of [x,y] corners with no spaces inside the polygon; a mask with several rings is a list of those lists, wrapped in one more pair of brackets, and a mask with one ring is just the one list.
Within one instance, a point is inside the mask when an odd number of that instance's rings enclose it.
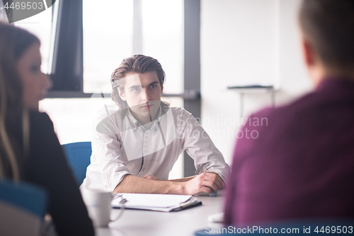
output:
{"label": "maroon shirt on the person seen from behind", "polygon": [[294,103],[251,116],[241,131],[227,225],[354,218],[354,80],[324,79]]}

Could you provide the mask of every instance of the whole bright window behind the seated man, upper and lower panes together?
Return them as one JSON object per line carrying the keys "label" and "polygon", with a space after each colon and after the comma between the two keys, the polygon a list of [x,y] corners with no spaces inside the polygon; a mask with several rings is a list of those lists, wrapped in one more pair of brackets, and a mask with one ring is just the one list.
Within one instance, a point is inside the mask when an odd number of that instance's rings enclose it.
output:
{"label": "whole bright window behind the seated man, upper and lower panes together", "polygon": [[[134,4],[142,4],[142,16],[134,16]],[[183,1],[111,0],[104,11],[97,1],[83,1],[84,92],[102,89],[110,93],[110,75],[125,57],[133,54],[134,18],[142,17],[142,53],[155,57],[166,72],[165,93],[183,93]],[[162,98],[171,106],[183,106],[181,98]],[[94,113],[106,99],[45,99],[41,111],[50,115],[60,143],[91,141]],[[170,179],[183,177],[183,156]]]}

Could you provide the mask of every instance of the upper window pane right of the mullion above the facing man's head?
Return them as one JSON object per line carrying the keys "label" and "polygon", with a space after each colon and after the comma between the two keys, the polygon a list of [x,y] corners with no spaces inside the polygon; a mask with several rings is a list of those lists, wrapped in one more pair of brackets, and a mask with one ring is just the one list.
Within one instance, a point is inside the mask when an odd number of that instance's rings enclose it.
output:
{"label": "upper window pane right of the mullion above the facing man's head", "polygon": [[142,50],[166,72],[166,94],[183,93],[183,1],[142,1]]}

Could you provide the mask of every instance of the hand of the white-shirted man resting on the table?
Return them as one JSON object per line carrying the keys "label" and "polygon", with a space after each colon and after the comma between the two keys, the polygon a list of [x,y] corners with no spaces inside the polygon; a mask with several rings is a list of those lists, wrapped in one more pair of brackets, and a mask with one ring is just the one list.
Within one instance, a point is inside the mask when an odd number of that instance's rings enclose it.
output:
{"label": "hand of the white-shirted man resting on the table", "polygon": [[198,174],[190,181],[183,182],[182,184],[184,194],[195,195],[200,192],[216,192],[224,186],[224,181],[222,181],[219,174],[214,172],[205,172]]}

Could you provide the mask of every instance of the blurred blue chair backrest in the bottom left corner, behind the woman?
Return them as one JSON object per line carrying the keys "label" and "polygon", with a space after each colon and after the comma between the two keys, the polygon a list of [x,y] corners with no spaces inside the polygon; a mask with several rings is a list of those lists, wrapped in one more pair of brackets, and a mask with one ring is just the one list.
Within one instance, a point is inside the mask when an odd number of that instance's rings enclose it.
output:
{"label": "blurred blue chair backrest in the bottom left corner, behind the woman", "polygon": [[0,235],[40,235],[47,193],[33,184],[0,181]]}

